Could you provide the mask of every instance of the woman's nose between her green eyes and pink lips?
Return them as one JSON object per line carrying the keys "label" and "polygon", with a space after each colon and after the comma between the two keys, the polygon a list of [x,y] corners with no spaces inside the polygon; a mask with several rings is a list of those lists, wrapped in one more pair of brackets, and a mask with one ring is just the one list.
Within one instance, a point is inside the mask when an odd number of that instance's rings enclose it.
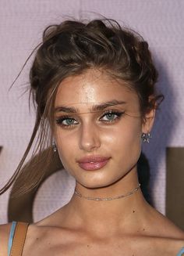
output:
{"label": "woman's nose between her green eyes and pink lips", "polygon": [[91,152],[101,146],[100,133],[94,124],[83,124],[80,128],[80,150]]}

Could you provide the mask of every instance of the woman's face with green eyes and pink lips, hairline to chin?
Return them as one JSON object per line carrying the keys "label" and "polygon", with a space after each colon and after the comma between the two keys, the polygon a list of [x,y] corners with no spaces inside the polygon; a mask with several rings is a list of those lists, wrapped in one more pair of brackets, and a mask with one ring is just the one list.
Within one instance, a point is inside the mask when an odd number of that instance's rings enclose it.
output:
{"label": "woman's face with green eyes and pink lips, hairline to chin", "polygon": [[82,186],[109,186],[136,168],[145,129],[136,92],[108,75],[88,70],[58,87],[58,154]]}

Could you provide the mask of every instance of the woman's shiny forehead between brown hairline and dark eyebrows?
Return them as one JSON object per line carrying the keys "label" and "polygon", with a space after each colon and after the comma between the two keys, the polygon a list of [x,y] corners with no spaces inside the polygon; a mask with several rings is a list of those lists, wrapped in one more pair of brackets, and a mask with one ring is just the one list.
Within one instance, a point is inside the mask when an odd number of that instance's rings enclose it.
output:
{"label": "woman's shiny forehead between brown hairline and dark eyebrows", "polygon": [[88,70],[84,74],[65,78],[58,86],[55,107],[92,106],[93,104],[123,101],[139,105],[136,92],[126,83],[119,82],[97,70]]}

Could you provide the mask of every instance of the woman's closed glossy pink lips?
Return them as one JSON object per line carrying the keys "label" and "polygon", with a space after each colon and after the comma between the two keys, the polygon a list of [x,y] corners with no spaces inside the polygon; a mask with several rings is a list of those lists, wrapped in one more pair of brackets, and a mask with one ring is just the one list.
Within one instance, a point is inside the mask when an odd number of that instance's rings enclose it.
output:
{"label": "woman's closed glossy pink lips", "polygon": [[83,170],[95,171],[103,168],[106,164],[108,164],[108,160],[110,160],[110,157],[90,156],[83,157],[77,162],[80,165],[80,168]]}

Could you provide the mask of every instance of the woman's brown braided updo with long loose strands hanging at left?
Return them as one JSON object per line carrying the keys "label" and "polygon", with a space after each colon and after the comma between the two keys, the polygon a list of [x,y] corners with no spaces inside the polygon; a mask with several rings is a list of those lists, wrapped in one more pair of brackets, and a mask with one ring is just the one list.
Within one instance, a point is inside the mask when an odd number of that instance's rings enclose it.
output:
{"label": "woman's brown braided updo with long loose strands hanging at left", "polygon": [[[142,115],[157,108],[157,102],[163,99],[155,91],[157,70],[148,44],[140,34],[108,19],[91,20],[89,23],[66,20],[47,27],[30,69],[30,96],[33,96],[37,107],[34,131],[23,159],[1,193],[19,177],[16,195],[39,184],[44,175],[44,166],[53,158],[53,109],[58,85],[63,79],[82,74],[90,68],[103,70],[133,88],[139,96]],[[29,171],[23,173],[24,161],[35,140],[37,146],[33,157],[50,146],[48,156],[44,160],[37,160]]]}

